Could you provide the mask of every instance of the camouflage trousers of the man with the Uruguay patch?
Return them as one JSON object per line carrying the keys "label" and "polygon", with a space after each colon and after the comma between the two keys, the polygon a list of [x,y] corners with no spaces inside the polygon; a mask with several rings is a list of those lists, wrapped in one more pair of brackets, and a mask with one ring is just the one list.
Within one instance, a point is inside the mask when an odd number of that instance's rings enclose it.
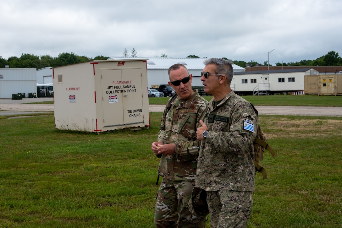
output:
{"label": "camouflage trousers of the man with the Uruguay patch", "polygon": [[207,191],[211,227],[246,227],[251,214],[252,197],[252,191]]}

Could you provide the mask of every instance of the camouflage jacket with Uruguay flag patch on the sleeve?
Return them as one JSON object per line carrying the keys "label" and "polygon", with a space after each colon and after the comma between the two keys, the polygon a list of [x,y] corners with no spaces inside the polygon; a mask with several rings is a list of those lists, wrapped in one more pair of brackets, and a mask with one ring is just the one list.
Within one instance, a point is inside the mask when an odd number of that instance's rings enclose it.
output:
{"label": "camouflage jacket with Uruguay flag patch on the sleeve", "polygon": [[206,191],[253,191],[253,140],[258,116],[247,100],[233,92],[215,108],[213,105],[214,99],[204,120],[209,130],[201,141],[196,187]]}

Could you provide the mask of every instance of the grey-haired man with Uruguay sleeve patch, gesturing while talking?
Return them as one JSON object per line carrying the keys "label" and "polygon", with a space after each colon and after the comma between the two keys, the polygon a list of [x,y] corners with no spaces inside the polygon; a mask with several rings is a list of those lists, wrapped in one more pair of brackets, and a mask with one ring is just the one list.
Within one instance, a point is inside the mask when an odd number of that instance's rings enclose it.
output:
{"label": "grey-haired man with Uruguay sleeve patch, gesturing while talking", "polygon": [[201,81],[214,99],[197,129],[201,146],[196,187],[207,192],[211,227],[246,227],[253,202],[258,116],[231,90],[230,61],[210,58],[204,64]]}

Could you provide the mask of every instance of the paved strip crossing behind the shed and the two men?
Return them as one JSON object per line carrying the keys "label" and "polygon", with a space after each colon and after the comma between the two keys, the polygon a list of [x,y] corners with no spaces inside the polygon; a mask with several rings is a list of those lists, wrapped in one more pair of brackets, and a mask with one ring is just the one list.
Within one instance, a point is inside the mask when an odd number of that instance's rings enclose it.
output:
{"label": "paved strip crossing behind the shed and the two men", "polygon": [[[53,104],[27,104],[52,101],[53,97],[0,99],[0,116],[53,112]],[[149,105],[150,112],[162,112],[165,105]],[[342,107],[312,106],[255,106],[260,115],[299,115],[299,116],[337,116],[342,117]],[[5,110],[5,111],[2,111]]]}

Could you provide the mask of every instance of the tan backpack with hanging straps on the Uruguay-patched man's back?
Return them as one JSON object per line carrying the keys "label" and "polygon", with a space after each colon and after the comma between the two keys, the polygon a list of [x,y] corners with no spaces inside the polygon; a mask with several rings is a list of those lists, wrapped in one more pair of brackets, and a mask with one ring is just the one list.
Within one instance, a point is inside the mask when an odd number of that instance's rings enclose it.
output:
{"label": "tan backpack with hanging straps on the Uruguay-patched man's back", "polygon": [[[250,103],[250,104],[253,107],[255,113],[258,115],[257,109],[254,108],[252,103]],[[265,134],[262,131],[262,129],[260,128],[259,124],[258,124],[258,128],[257,128],[257,137],[255,137],[255,139],[254,139],[253,146],[254,146],[253,162],[254,162],[254,169],[255,169],[254,175],[257,172],[260,172],[262,174],[262,176],[264,177],[264,179],[266,179],[267,178],[266,171],[265,171],[264,167],[260,166],[259,163],[263,159],[263,155],[264,155],[265,150],[268,150],[271,153],[271,155],[273,156],[273,158],[276,157],[276,154],[275,154],[273,148],[269,144],[267,144]]]}

